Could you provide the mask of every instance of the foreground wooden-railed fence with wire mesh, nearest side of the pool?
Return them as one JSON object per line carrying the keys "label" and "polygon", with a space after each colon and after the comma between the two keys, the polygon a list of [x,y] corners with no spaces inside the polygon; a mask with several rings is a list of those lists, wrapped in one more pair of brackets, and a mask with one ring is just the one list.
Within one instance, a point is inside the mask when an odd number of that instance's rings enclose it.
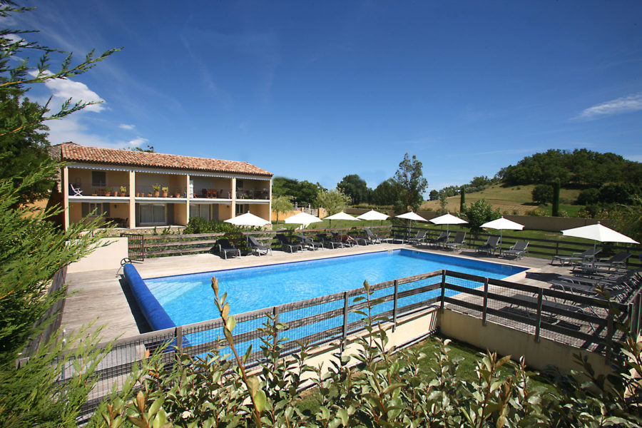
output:
{"label": "foreground wooden-railed fence with wire mesh, nearest side of the pool", "polygon": [[[621,332],[613,327],[615,322],[630,322],[634,334],[641,330],[642,293],[639,286],[620,301],[608,302],[597,297],[437,270],[381,282],[371,285],[370,290],[372,299],[379,300],[372,315],[386,318],[384,326],[393,329],[408,315],[417,317],[421,312],[447,307],[477,317],[481,325],[494,322],[528,332],[536,341],[546,337],[607,356],[621,337]],[[310,345],[327,342],[342,345],[364,327],[362,315],[355,313],[366,307],[365,301],[354,302],[354,297],[360,295],[364,295],[362,288],[235,315],[235,347],[243,354],[252,346],[250,365],[263,358],[258,328],[267,314],[287,325],[279,332],[288,338],[285,354],[298,349],[295,340]],[[620,310],[621,317],[613,318],[609,307]],[[419,338],[425,334],[417,331],[416,335]],[[192,356],[212,350],[223,355],[230,353],[223,335],[223,322],[218,319],[117,340],[96,372],[98,383],[83,407],[83,414],[91,414],[114,385],[117,389],[121,387],[131,367],[140,362],[146,352],[153,352],[165,344],[175,345],[163,354],[167,363],[174,361],[175,352]]]}

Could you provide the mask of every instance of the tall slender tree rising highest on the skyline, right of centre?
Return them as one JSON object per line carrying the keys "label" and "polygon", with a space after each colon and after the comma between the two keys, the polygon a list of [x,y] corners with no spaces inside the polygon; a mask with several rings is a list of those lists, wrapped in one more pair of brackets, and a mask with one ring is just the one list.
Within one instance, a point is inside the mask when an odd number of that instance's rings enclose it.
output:
{"label": "tall slender tree rising highest on the skyline, right of centre", "polygon": [[422,163],[417,161],[417,156],[409,158],[408,153],[399,163],[399,169],[394,173],[394,181],[399,186],[399,198],[395,203],[395,210],[419,210],[424,202],[424,191],[428,182],[422,174]]}

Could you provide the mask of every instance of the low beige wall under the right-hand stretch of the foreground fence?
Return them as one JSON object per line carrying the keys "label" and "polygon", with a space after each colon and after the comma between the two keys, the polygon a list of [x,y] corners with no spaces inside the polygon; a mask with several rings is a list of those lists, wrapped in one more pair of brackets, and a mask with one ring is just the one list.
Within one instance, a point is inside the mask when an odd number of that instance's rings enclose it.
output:
{"label": "low beige wall under the right-hand stretch of the foreground fence", "polygon": [[519,357],[524,355],[526,364],[537,370],[544,370],[548,365],[556,365],[563,373],[569,373],[571,369],[577,370],[579,367],[574,363],[573,355],[580,353],[588,356],[588,361],[596,372],[610,372],[605,358],[601,355],[545,338],[535,342],[534,335],[492,322],[487,322],[484,326],[479,318],[449,309],[445,309],[439,317],[439,330],[446,337],[467,342],[482,350],[511,355],[514,360],[519,360]]}

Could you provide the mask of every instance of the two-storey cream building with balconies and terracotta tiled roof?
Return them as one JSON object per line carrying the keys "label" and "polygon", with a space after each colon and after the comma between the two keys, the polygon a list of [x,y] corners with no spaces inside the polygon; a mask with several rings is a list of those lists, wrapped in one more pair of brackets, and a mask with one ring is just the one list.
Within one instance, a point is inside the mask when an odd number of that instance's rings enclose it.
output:
{"label": "two-storey cream building with balconies and terracotta tiled roof", "polygon": [[194,217],[227,220],[248,211],[270,220],[272,173],[247,162],[75,143],[51,151],[66,163],[52,195],[66,208],[65,229],[101,214],[131,229],[187,225]]}

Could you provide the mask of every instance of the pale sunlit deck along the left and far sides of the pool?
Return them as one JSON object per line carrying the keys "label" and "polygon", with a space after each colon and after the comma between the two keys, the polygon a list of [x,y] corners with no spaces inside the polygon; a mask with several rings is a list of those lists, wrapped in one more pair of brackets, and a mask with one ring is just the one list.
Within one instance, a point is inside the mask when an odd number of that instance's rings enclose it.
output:
{"label": "pale sunlit deck along the left and far sides of the pool", "polygon": [[[510,277],[513,282],[548,287],[546,282],[552,275],[566,275],[569,267],[551,266],[549,259],[526,257],[521,260],[507,260],[498,257],[481,257],[474,250],[464,248],[460,253],[432,250],[429,248],[416,248],[405,244],[377,244],[353,248],[337,248],[335,250],[305,250],[298,253],[284,253],[275,250],[273,255],[255,256],[248,255],[240,258],[224,260],[218,255],[198,254],[183,255],[178,257],[151,258],[144,262],[135,262],[136,269],[143,279],[163,277],[212,270],[234,269],[260,265],[273,265],[278,263],[291,263],[302,260],[332,258],[340,255],[354,255],[374,253],[384,250],[397,250],[408,248],[422,250],[428,253],[459,255],[474,260],[486,260],[496,263],[519,265],[528,267],[529,271]],[[142,315],[136,309],[133,296],[122,278],[122,268],[109,270],[96,270],[93,272],[69,273],[67,275],[68,290],[72,295],[66,299],[63,308],[62,324],[68,332],[78,330],[83,325],[93,322],[89,330],[96,330],[103,326],[101,337],[104,340],[116,337],[131,337],[146,332]],[[541,281],[541,280],[544,281]],[[132,309],[133,308],[133,309]],[[143,326],[139,328],[138,326]]]}

